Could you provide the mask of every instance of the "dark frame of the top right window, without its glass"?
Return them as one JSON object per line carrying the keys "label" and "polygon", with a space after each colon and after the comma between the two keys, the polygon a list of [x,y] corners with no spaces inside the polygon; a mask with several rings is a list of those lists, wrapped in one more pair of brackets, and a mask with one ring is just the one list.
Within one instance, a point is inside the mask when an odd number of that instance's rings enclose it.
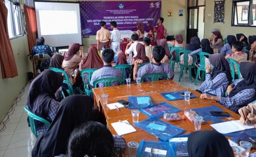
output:
{"label": "dark frame of the top right window, without its glass", "polygon": [[[239,2],[248,2],[249,1],[249,8],[248,8],[248,23],[239,23],[238,18],[238,10],[237,10],[237,3]],[[243,11],[243,9],[242,9]],[[242,12],[241,12],[242,13]],[[235,18],[237,24],[235,24]],[[242,18],[242,16],[241,16]],[[245,21],[245,20],[241,20]],[[253,26],[253,0],[233,0],[232,1],[232,18],[231,18],[231,26],[238,26],[238,27],[256,27]]]}

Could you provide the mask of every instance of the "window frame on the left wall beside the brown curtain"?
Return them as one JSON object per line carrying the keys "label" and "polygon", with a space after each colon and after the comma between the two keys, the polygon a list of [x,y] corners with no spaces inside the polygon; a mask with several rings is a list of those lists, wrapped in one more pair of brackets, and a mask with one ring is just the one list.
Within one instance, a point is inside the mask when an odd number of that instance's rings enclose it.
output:
{"label": "window frame on the left wall beside the brown curtain", "polygon": [[[5,0],[7,1],[7,0]],[[8,28],[8,29],[12,29],[12,32],[14,34],[14,36],[12,38],[9,38],[10,40],[12,39],[15,39],[15,38],[18,38],[18,37],[22,37],[24,36],[24,32],[23,32],[23,24],[22,24],[22,19],[21,19],[21,11],[20,11],[20,3],[19,2],[15,2],[15,1],[12,1],[12,0],[8,0],[10,1],[10,4],[11,4],[11,13],[12,15],[10,15],[11,17],[11,26],[12,28]],[[20,34],[17,35],[17,32],[16,32],[16,26],[15,26],[15,8],[14,6],[17,7],[17,12],[18,12],[18,19],[17,19],[17,24],[18,24],[18,29],[20,31]]]}

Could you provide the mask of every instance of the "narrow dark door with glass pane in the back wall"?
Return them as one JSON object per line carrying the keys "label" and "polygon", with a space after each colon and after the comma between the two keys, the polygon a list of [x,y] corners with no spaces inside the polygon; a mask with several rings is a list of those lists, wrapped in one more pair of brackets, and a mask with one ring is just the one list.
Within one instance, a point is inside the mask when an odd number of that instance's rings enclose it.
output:
{"label": "narrow dark door with glass pane in the back wall", "polygon": [[190,43],[192,37],[198,36],[198,13],[198,7],[188,9],[187,43]]}

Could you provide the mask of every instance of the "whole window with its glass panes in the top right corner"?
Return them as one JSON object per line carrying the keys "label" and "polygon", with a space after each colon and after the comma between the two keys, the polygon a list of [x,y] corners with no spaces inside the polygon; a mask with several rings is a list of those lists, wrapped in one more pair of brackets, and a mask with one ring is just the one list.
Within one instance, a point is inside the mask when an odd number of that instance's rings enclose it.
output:
{"label": "whole window with its glass panes in the top right corner", "polygon": [[232,26],[256,26],[256,0],[233,0]]}

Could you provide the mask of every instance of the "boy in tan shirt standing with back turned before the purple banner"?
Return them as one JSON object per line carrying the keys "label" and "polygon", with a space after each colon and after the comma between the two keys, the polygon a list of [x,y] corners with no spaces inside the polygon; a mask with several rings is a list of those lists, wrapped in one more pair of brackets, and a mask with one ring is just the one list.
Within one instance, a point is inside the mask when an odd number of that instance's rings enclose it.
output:
{"label": "boy in tan shirt standing with back turned before the purple banner", "polygon": [[102,50],[102,47],[110,48],[110,40],[111,35],[108,29],[106,29],[106,23],[104,21],[101,21],[99,23],[101,26],[101,29],[99,29],[96,33],[96,40],[97,40],[97,49],[98,51]]}

